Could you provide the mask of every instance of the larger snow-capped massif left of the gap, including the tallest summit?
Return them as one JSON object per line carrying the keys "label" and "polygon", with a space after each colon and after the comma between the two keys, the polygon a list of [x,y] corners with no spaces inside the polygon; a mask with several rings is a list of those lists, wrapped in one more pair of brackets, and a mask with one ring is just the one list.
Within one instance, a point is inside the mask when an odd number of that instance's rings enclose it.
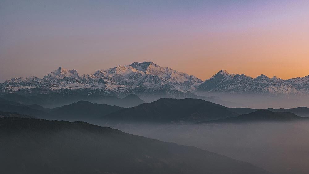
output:
{"label": "larger snow-capped massif left of the gap, including the tallest summit", "polygon": [[169,96],[192,94],[202,82],[193,75],[161,67],[153,62],[134,62],[82,76],[76,70],[59,67],[43,79],[28,77],[7,80],[0,89],[2,93],[19,92],[28,95],[72,89],[86,94],[100,93],[120,97],[132,93]]}

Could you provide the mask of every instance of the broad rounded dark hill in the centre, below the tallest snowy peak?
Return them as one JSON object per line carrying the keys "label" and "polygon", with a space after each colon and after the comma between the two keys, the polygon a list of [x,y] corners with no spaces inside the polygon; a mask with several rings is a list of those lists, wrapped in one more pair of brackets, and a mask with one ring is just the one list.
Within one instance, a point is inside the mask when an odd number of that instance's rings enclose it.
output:
{"label": "broad rounded dark hill in the centre, below the tallest snowy peak", "polygon": [[121,109],[106,115],[105,119],[114,121],[141,122],[197,122],[218,118],[236,117],[239,114],[226,107],[200,99],[161,98],[152,103],[144,103],[132,108]]}

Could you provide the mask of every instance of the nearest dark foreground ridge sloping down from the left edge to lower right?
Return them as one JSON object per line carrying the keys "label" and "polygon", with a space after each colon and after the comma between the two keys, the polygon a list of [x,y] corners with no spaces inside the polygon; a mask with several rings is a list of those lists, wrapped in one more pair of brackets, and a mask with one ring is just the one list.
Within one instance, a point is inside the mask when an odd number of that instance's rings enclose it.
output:
{"label": "nearest dark foreground ridge sloping down from the left edge to lower right", "polygon": [[1,173],[266,174],[192,146],[85,122],[0,118]]}

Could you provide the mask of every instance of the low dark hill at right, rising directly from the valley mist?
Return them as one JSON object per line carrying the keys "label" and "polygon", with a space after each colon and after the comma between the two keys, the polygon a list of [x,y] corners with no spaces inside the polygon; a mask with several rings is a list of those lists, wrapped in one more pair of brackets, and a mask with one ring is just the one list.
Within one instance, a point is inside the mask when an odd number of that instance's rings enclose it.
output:
{"label": "low dark hill at right, rising directly from the valley mist", "polygon": [[308,117],[299,117],[290,112],[273,112],[269,110],[257,110],[249,114],[243,114],[238,117],[224,118],[218,120],[204,121],[199,123],[242,123],[242,122],[260,122],[260,121],[298,121],[309,120]]}

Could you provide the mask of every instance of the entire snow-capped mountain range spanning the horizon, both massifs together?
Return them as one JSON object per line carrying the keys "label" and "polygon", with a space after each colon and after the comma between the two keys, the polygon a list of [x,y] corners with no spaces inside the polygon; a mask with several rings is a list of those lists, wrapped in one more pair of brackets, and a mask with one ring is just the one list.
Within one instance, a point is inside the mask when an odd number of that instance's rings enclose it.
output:
{"label": "entire snow-capped mountain range spanning the horizon, both massifs together", "polygon": [[187,73],[153,62],[134,62],[130,65],[97,70],[79,75],[76,70],[59,67],[43,79],[38,77],[13,78],[0,84],[0,94],[46,94],[64,89],[82,94],[102,94],[125,97],[136,94],[141,97],[192,97],[199,92],[253,93],[273,96],[309,95],[309,76],[282,80],[260,75],[256,78],[244,74],[219,71],[203,82]]}

